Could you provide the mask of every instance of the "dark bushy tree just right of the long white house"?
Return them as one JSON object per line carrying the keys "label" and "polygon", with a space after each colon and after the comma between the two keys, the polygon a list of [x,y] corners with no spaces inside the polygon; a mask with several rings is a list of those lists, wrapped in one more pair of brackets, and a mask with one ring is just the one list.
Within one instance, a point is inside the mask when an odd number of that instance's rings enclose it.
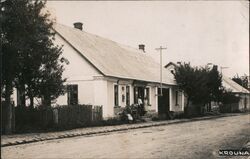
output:
{"label": "dark bushy tree just right of the long white house", "polygon": [[192,67],[190,63],[182,63],[175,67],[174,77],[180,89],[187,95],[185,113],[189,103],[201,104],[218,101],[221,97],[221,75],[217,67]]}

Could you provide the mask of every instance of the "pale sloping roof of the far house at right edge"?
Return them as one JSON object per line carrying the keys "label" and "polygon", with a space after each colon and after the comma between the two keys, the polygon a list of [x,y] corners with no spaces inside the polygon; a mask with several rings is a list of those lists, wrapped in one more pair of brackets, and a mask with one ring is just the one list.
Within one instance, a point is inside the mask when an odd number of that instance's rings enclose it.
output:
{"label": "pale sloping roof of the far house at right edge", "polygon": [[232,79],[222,76],[222,85],[227,89],[232,91],[233,93],[250,93],[247,89],[234,82]]}

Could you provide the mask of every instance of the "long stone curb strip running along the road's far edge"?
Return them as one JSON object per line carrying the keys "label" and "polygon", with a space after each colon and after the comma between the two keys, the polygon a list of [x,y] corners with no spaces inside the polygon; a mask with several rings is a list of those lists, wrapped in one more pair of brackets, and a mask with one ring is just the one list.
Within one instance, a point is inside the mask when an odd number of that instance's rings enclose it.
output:
{"label": "long stone curb strip running along the road's far edge", "polygon": [[179,124],[179,123],[185,123],[185,122],[192,122],[192,121],[200,121],[200,120],[208,120],[208,119],[216,119],[221,117],[228,117],[228,116],[238,116],[240,114],[222,114],[217,116],[205,116],[205,117],[197,117],[197,118],[191,118],[191,119],[176,119],[176,120],[168,120],[168,121],[161,121],[161,122],[152,122],[152,123],[143,123],[143,124],[131,124],[127,125],[126,127],[121,128],[111,128],[106,130],[93,130],[91,132],[75,132],[75,133],[65,133],[63,135],[52,135],[48,137],[34,137],[28,140],[20,140],[20,141],[14,141],[14,142],[7,142],[7,143],[1,143],[1,147],[7,147],[7,146],[15,146],[15,145],[21,145],[21,144],[28,144],[28,143],[34,143],[34,142],[40,142],[40,141],[46,141],[46,140],[56,140],[56,139],[63,139],[63,138],[70,138],[70,137],[77,137],[77,136],[88,136],[88,135],[96,135],[96,134],[104,134],[109,132],[118,132],[118,131],[126,131],[130,129],[140,129],[140,128],[147,128],[147,127],[155,127],[155,126],[163,126],[163,125],[170,125],[170,124]]}

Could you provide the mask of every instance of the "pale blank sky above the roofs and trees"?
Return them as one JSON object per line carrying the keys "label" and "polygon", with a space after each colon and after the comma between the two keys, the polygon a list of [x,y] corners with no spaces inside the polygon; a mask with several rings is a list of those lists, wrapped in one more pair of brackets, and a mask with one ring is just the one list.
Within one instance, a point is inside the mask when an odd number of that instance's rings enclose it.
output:
{"label": "pale blank sky above the roofs and trees", "polygon": [[163,64],[190,62],[228,67],[223,74],[249,75],[247,1],[48,1],[57,23],[138,48]]}

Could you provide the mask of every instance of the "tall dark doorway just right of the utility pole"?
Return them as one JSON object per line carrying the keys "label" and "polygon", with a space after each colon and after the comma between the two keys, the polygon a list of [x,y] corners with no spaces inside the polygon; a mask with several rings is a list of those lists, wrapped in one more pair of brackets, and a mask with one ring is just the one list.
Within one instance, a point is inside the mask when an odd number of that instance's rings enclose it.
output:
{"label": "tall dark doorway just right of the utility pole", "polygon": [[[161,89],[158,88],[158,94],[161,93]],[[159,115],[168,115],[169,113],[169,89],[162,89],[162,96],[158,96],[158,113]]]}

